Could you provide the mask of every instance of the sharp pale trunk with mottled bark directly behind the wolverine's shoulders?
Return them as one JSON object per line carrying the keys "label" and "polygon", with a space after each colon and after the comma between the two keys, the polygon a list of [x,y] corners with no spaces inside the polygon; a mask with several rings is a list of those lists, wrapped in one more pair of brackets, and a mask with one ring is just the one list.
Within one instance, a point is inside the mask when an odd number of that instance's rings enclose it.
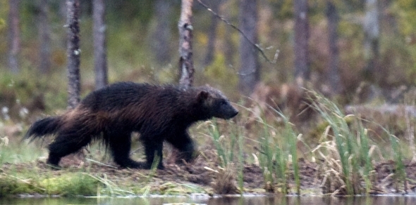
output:
{"label": "sharp pale trunk with mottled bark directly behind the wolverine's shoulders", "polygon": [[192,86],[193,74],[195,72],[192,60],[192,4],[193,0],[182,0],[181,18],[178,23],[179,27],[179,67],[181,70],[181,79],[179,84],[182,86]]}

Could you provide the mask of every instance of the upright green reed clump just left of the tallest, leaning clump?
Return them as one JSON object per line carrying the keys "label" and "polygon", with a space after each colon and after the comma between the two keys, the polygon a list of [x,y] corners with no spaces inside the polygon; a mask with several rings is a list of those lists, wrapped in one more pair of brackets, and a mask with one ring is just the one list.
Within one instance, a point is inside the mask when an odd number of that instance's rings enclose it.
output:
{"label": "upright green reed clump just left of the tallest, leaning clump", "polygon": [[[269,113],[265,113],[269,112]],[[268,118],[266,116],[273,116]],[[290,164],[293,168],[295,192],[300,194],[300,173],[298,161],[298,135],[280,110],[267,105],[257,117],[257,123],[262,127],[259,138],[259,162],[262,168],[266,189],[271,192],[280,187],[281,192],[287,193]]]}

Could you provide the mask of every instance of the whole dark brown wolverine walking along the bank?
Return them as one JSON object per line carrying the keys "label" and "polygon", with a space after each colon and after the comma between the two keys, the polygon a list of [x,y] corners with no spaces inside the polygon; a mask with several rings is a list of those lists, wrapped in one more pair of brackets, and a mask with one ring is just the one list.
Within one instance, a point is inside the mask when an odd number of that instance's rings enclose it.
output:
{"label": "whole dark brown wolverine walking along the bank", "polygon": [[[195,146],[188,127],[196,121],[238,114],[220,91],[207,86],[183,88],[121,82],[94,91],[78,107],[57,117],[36,121],[26,138],[54,134],[48,164],[59,166],[61,157],[80,150],[92,140],[102,140],[121,167],[150,168],[162,159],[163,142],[171,143],[186,161]],[[146,162],[130,159],[131,133],[140,133]],[[159,160],[158,168],[163,168]]]}

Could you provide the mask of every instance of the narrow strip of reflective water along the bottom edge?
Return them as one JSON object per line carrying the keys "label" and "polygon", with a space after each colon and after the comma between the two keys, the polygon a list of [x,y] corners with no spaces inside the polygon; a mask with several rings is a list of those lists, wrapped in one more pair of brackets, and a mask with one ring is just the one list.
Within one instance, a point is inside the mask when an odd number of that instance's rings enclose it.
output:
{"label": "narrow strip of reflective water along the bottom edge", "polygon": [[169,204],[195,203],[209,205],[410,205],[416,204],[416,196],[377,197],[135,197],[135,198],[24,198],[1,199],[0,204],[15,205],[57,205],[57,204]]}

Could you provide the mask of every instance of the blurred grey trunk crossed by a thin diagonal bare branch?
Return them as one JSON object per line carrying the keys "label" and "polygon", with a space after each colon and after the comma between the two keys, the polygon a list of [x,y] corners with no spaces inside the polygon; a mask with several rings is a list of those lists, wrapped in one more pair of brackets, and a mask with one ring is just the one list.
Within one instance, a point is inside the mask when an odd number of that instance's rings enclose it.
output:
{"label": "blurred grey trunk crossed by a thin diagonal bare branch", "polygon": [[[257,0],[240,0],[239,27],[250,41],[257,43]],[[239,89],[250,95],[260,78],[258,51],[240,34]]]}

